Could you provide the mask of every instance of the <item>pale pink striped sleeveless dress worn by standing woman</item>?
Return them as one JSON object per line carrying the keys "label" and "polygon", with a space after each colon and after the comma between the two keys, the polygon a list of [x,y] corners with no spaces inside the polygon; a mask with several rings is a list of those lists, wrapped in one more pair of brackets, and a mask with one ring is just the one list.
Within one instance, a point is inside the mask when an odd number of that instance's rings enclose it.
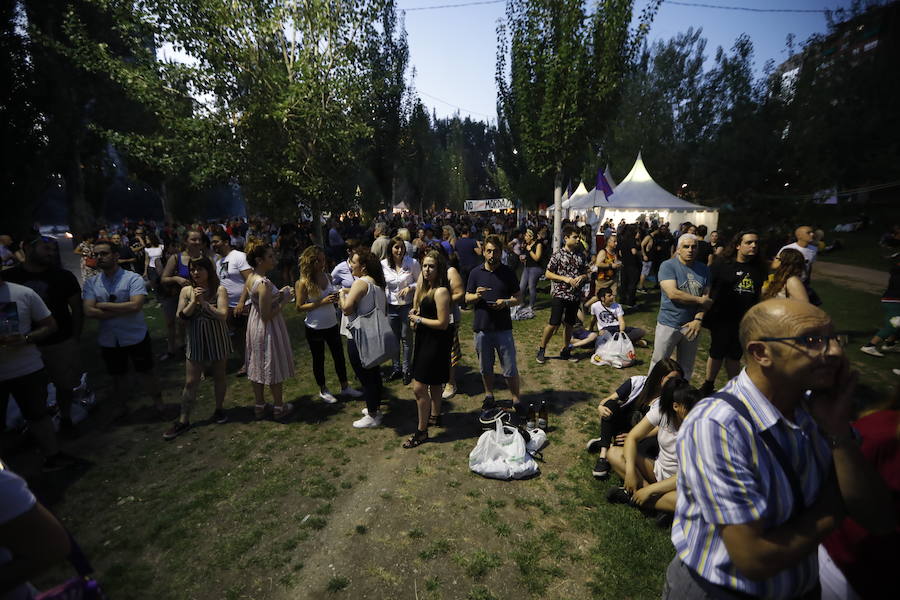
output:
{"label": "pale pink striped sleeveless dress worn by standing woman", "polygon": [[247,321],[247,379],[264,385],[281,383],[294,376],[294,353],[284,317],[277,313],[266,323],[259,311],[259,284],[269,286],[273,297],[278,290],[271,281],[260,277],[250,289],[250,318]]}

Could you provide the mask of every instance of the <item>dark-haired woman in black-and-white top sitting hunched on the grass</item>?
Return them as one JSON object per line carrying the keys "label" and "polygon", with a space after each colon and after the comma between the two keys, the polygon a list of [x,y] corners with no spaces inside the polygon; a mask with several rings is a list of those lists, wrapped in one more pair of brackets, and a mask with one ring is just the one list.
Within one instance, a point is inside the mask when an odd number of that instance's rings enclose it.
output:
{"label": "dark-haired woman in black-and-white top sitting hunched on the grass", "polygon": [[[684,371],[674,358],[666,358],[653,365],[649,375],[629,377],[615,392],[600,401],[597,406],[597,412],[600,413],[600,437],[587,443],[588,452],[600,452],[597,464],[594,465],[594,477],[604,478],[609,475],[607,452],[610,446],[614,443],[621,446],[625,442],[625,435],[647,414],[651,404],[659,398],[666,381],[675,377],[684,377]],[[645,453],[653,454],[649,449],[645,449]]]}

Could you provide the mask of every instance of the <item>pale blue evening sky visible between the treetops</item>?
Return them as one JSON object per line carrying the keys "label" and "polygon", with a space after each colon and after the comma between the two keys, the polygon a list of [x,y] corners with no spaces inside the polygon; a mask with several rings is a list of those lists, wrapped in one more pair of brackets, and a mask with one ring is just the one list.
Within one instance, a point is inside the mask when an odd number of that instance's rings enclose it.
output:
{"label": "pale blue evening sky visible between the treetops", "polygon": [[[753,12],[711,6],[821,11],[850,4],[849,0],[684,0],[681,4],[674,1],[663,1],[650,28],[651,43],[668,40],[689,27],[702,27],[707,38],[706,54],[711,60],[717,47],[728,50],[739,35],[746,33],[753,41],[757,75],[767,60],[778,64],[788,58],[785,48],[788,34],[794,34],[799,43],[813,33],[824,33],[827,29],[824,13]],[[473,2],[397,0],[397,6],[405,9],[410,65],[415,69],[413,83],[422,102],[439,117],[459,111],[463,117],[496,121],[496,29],[506,4]],[[426,8],[462,3],[469,5]],[[634,13],[639,14],[647,3],[647,0],[635,0]]]}

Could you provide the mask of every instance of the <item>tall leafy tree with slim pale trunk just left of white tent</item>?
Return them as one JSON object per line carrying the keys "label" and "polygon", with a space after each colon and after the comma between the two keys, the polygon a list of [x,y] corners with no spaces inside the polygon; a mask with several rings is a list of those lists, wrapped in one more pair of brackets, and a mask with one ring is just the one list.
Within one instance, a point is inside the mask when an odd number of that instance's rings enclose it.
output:
{"label": "tall leafy tree with slim pale trunk just left of white tent", "polygon": [[[554,247],[559,247],[563,174],[580,171],[608,115],[658,1],[634,32],[631,0],[604,0],[590,15],[583,1],[508,0],[498,28],[497,118],[532,175],[554,181]],[[513,171],[511,169],[510,171]]]}

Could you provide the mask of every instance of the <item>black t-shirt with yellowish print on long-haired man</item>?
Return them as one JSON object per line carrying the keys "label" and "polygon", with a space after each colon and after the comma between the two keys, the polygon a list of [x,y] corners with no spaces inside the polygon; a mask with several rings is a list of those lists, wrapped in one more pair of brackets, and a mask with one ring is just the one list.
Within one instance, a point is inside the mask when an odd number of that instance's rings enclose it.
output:
{"label": "black t-shirt with yellowish print on long-haired man", "polygon": [[765,280],[766,268],[762,263],[714,263],[710,269],[709,292],[713,305],[703,319],[704,325],[737,325],[750,307],[759,302]]}

